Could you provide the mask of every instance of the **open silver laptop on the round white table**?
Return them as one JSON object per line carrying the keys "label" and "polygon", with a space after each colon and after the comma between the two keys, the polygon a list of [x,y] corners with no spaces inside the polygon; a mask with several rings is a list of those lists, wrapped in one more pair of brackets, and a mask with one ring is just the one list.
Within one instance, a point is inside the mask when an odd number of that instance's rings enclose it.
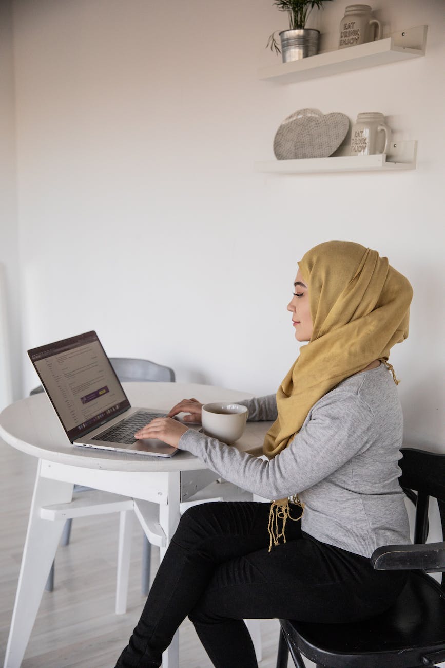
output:
{"label": "open silver laptop on the round white table", "polygon": [[29,359],[71,443],[86,448],[172,457],[157,439],[134,438],[156,409],[131,407],[94,331],[28,351]]}

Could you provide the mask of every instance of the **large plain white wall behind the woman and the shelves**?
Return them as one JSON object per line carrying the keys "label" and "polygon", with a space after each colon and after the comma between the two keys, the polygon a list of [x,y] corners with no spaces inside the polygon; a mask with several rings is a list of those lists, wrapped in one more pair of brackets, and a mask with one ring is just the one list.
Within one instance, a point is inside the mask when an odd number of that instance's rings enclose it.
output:
{"label": "large plain white wall behind the woman and the shelves", "polygon": [[[346,4],[316,17],[325,47]],[[372,4],[386,33],[427,23],[426,57],[275,86],[257,77],[286,27],[268,0],[17,0],[22,349],[94,328],[109,355],[171,365],[178,381],[274,391],[298,353],[297,260],[354,240],[414,286],[391,361],[407,442],[443,450],[443,3]],[[383,112],[396,140],[418,140],[417,169],[256,173],[307,107]]]}

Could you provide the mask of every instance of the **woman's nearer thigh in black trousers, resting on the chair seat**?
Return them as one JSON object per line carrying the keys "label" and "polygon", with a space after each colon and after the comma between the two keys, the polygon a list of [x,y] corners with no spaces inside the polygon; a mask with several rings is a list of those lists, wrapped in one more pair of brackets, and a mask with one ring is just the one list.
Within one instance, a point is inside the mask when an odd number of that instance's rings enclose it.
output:
{"label": "woman's nearer thigh in black trousers, resting on the chair seat", "polygon": [[358,621],[388,608],[403,580],[300,531],[271,552],[266,547],[219,564],[189,617],[206,624],[251,618]]}

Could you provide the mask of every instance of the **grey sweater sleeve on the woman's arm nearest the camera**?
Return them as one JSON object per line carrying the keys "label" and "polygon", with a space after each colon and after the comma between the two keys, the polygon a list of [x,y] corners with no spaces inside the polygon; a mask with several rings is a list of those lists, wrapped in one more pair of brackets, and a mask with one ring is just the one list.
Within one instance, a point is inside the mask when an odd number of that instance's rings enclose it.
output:
{"label": "grey sweater sleeve on the woman's arm nearest the camera", "polygon": [[179,448],[248,492],[278,499],[312,487],[366,449],[372,443],[373,417],[360,397],[338,393],[320,399],[290,446],[270,461],[194,430],[181,436]]}

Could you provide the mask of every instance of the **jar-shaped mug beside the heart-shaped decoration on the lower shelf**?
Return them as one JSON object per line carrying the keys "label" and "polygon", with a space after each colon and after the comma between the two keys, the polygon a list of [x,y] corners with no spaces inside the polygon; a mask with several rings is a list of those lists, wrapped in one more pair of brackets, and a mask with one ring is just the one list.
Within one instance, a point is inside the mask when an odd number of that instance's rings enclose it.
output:
{"label": "jar-shaped mug beside the heart-shaped decoration on the lower shelf", "polygon": [[358,114],[351,132],[350,153],[352,156],[372,156],[376,153],[386,153],[390,141],[391,130],[386,125],[383,114],[380,114],[380,112]]}

